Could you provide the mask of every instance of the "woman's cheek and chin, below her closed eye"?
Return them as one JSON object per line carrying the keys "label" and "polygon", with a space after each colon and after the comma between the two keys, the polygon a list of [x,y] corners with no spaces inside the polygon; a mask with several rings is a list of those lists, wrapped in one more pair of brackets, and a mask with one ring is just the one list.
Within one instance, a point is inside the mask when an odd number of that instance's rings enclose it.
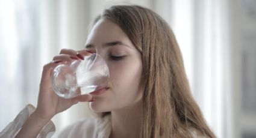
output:
{"label": "woman's cheek and chin, below her closed eye", "polygon": [[126,59],[119,62],[108,62],[110,70],[109,84],[111,91],[105,97],[90,103],[95,112],[110,112],[123,109],[142,99],[140,78],[142,62],[139,59]]}

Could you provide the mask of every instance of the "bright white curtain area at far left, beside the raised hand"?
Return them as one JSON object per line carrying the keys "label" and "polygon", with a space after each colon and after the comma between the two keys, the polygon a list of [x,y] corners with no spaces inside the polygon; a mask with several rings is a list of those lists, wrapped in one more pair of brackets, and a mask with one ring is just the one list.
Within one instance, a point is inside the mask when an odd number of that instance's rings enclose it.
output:
{"label": "bright white curtain area at far left, beside the raised hand", "polygon": [[39,86],[39,5],[0,1],[0,129],[25,104],[36,105]]}

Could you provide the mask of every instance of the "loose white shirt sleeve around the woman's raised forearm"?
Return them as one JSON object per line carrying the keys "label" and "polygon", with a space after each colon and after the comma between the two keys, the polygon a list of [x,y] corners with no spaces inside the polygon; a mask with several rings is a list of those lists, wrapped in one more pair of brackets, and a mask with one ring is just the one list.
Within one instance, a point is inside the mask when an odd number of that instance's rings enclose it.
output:
{"label": "loose white shirt sleeve around the woman's raised forearm", "polygon": [[[20,128],[22,128],[22,125],[27,121],[28,117],[31,115],[31,113],[34,112],[35,109],[36,108],[33,105],[28,104],[24,109],[19,112],[14,121],[10,122],[10,124],[8,124],[4,128],[4,130],[1,131],[0,137],[15,137],[16,134],[19,132]],[[54,133],[55,125],[52,121],[49,121],[37,135],[37,138],[49,138],[52,137]]]}

